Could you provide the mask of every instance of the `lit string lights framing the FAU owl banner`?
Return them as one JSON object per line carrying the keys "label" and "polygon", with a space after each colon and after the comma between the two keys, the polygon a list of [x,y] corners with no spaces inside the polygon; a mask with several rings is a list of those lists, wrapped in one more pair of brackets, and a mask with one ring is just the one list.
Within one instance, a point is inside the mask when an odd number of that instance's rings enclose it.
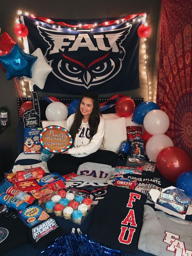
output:
{"label": "lit string lights framing the FAU owl banner", "polygon": [[[22,11],[19,10],[17,12],[17,14],[20,17],[21,23],[24,24],[23,16],[21,15]],[[29,13],[26,12],[25,15],[28,16]],[[94,23],[94,24],[84,24],[84,25],[81,24],[81,23],[79,23],[77,25],[69,25],[69,24],[64,23],[64,22],[58,22],[57,23],[57,22],[54,22],[54,21],[52,21],[51,19],[48,19],[48,18],[36,17],[36,16],[34,16],[34,14],[31,14],[30,17],[33,18],[33,19],[36,19],[36,18],[38,19],[38,20],[36,20],[37,25],[40,24],[41,26],[44,26],[46,23],[48,23],[49,26],[51,26],[53,29],[56,29],[56,30],[60,29],[61,26],[64,26],[64,27],[68,28],[68,30],[70,30],[70,31],[71,30],[78,30],[80,28],[81,29],[87,28],[87,29],[89,29],[88,31],[93,31],[93,28],[98,27],[98,28],[103,30],[103,27],[105,27],[105,26],[111,26],[111,25],[123,23],[124,21],[126,21],[128,19],[131,19],[131,21],[133,23],[136,22],[136,21],[138,21],[138,22],[143,21],[145,23],[145,19],[146,19],[147,15],[145,13],[142,13],[141,17],[139,17],[139,18],[137,18],[137,15],[135,15],[135,16],[134,15],[129,15],[129,16],[124,17],[123,19],[120,19],[120,20],[105,21],[101,24]],[[16,23],[19,23],[19,19],[16,19],[15,21],[16,21]],[[129,26],[131,21],[126,22],[126,25]],[[147,26],[147,23],[145,23],[145,25]],[[18,37],[18,40],[21,41],[22,38]],[[153,101],[156,102],[156,95],[153,95],[151,81],[150,81],[149,76],[148,76],[148,58],[149,58],[149,56],[147,54],[147,38],[141,38],[141,40],[143,40],[143,42],[141,44],[141,49],[142,49],[142,54],[143,54],[142,75],[143,75],[143,78],[145,79],[146,84],[147,84],[148,100],[151,101],[153,99]],[[27,37],[23,37],[23,48],[24,48],[25,53],[29,53]],[[24,80],[23,80],[23,82],[20,82],[20,83],[21,83],[21,91],[23,93],[23,96],[30,96],[30,95],[27,95],[27,86],[29,85],[29,91],[30,92],[33,91],[32,83],[31,84],[30,84],[30,82],[26,83],[26,82],[24,82]]]}

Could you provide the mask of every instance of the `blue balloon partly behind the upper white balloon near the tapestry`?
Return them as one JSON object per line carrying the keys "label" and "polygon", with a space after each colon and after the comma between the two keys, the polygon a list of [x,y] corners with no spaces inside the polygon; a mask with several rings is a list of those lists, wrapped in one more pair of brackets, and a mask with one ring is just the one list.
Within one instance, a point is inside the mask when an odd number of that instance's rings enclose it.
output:
{"label": "blue balloon partly behind the upper white balloon near the tapestry", "polygon": [[155,102],[152,102],[152,101],[142,102],[135,108],[135,111],[133,113],[133,118],[132,118],[133,122],[137,124],[143,124],[145,115],[147,115],[149,111],[154,109],[159,109],[159,106]]}

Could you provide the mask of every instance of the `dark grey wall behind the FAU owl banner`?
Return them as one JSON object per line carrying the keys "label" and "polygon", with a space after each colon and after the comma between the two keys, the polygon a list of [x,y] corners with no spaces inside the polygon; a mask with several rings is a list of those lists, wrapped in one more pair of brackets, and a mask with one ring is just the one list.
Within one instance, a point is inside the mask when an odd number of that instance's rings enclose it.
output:
{"label": "dark grey wall behind the FAU owl banner", "polygon": [[[14,33],[15,20],[18,19],[17,11],[28,12],[36,16],[66,19],[92,19],[102,17],[122,17],[132,13],[147,13],[147,22],[151,27],[151,34],[147,39],[147,54],[149,55],[148,70],[151,81],[156,81],[157,56],[158,56],[158,23],[160,15],[160,0],[9,0],[3,1],[0,8],[1,32],[7,32],[16,43],[22,47]],[[156,47],[157,46],[157,47]],[[154,68],[155,67],[155,68]],[[141,74],[140,70],[140,74]],[[0,134],[0,172],[6,172],[17,157],[16,127],[18,122],[17,95],[13,79],[6,80],[5,73],[0,69],[0,107],[6,107],[9,112],[10,128]],[[113,93],[114,94],[114,93]],[[106,94],[100,96],[111,96]],[[124,92],[128,96],[147,98],[147,87],[141,79],[140,88]],[[39,96],[45,96],[38,93]],[[46,94],[49,96],[49,94]],[[58,94],[51,96],[59,96]],[[64,96],[64,95],[62,95]],[[1,167],[2,166],[2,167]]]}

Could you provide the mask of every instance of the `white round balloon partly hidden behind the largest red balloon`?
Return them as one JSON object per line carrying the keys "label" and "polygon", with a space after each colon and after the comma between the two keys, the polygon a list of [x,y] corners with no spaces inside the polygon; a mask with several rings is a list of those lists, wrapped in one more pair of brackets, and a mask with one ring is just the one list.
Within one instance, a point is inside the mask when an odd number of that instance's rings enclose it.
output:
{"label": "white round balloon partly hidden behind the largest red balloon", "polygon": [[149,160],[156,162],[159,152],[171,146],[174,146],[172,139],[165,134],[156,134],[147,141],[145,150]]}

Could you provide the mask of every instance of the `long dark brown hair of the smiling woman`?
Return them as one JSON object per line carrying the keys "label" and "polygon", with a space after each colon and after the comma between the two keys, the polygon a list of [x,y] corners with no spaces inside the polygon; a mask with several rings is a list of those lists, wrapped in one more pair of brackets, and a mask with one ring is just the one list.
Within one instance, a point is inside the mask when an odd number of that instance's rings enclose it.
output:
{"label": "long dark brown hair of the smiling woman", "polygon": [[75,141],[75,136],[79,130],[79,127],[81,126],[81,122],[83,119],[83,115],[81,114],[81,111],[80,111],[80,105],[81,105],[81,101],[84,97],[91,98],[93,100],[93,111],[92,111],[92,113],[90,115],[90,119],[88,121],[89,126],[90,126],[90,141],[92,140],[93,136],[97,133],[98,125],[100,122],[100,107],[99,107],[98,94],[96,94],[94,92],[85,92],[83,94],[83,96],[81,97],[81,100],[79,102],[79,107],[75,113],[74,122],[69,130],[70,135],[73,139],[73,143]]}

